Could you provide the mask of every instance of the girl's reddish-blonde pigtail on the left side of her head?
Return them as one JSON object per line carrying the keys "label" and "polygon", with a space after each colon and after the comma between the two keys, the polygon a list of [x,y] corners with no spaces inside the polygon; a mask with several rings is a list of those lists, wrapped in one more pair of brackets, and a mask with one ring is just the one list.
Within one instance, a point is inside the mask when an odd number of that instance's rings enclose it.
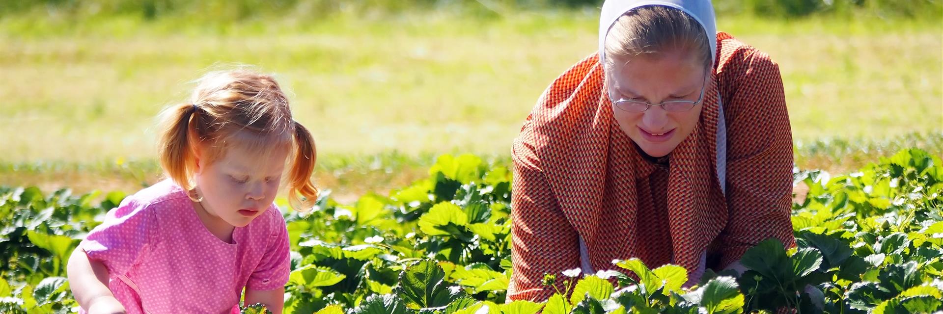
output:
{"label": "girl's reddish-blonde pigtail on the left side of her head", "polygon": [[196,169],[194,144],[199,142],[197,125],[193,122],[199,118],[198,110],[192,104],[182,104],[168,107],[161,114],[160,166],[184,190],[193,188],[190,181]]}

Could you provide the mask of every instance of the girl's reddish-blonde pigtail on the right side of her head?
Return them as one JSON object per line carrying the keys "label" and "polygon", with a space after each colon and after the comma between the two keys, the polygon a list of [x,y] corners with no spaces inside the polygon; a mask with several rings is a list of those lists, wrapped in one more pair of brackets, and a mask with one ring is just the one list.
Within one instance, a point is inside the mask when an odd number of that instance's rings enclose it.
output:
{"label": "girl's reddish-blonde pigtail on the right side of her head", "polygon": [[319,190],[311,182],[317,150],[311,133],[302,124],[294,123],[294,140],[295,157],[288,177],[289,204],[295,210],[308,210],[318,201]]}

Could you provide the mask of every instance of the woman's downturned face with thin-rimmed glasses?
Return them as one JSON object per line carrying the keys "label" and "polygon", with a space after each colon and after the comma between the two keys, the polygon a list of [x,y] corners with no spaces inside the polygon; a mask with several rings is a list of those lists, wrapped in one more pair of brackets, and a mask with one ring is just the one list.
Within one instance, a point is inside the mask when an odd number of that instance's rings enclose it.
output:
{"label": "woman's downturned face with thin-rimmed glasses", "polygon": [[[610,100],[620,99],[659,104],[665,101],[697,101],[706,84],[703,63],[687,54],[663,53],[656,57],[613,58],[607,74]],[[703,102],[702,102],[703,103]],[[666,111],[662,106],[630,112],[613,107],[622,132],[652,157],[664,157],[685,140],[701,117],[702,103],[685,111]]]}

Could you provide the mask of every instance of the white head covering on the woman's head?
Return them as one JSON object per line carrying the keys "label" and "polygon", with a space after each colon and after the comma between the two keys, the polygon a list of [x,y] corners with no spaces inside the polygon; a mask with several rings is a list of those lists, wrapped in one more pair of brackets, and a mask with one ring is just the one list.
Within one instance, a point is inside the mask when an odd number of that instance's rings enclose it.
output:
{"label": "white head covering on the woman's head", "polygon": [[710,43],[711,64],[717,61],[717,24],[714,21],[714,7],[710,0],[606,0],[603,13],[599,17],[599,59],[605,60],[605,37],[609,29],[625,12],[645,6],[665,6],[677,8],[694,18],[704,29],[704,36]]}

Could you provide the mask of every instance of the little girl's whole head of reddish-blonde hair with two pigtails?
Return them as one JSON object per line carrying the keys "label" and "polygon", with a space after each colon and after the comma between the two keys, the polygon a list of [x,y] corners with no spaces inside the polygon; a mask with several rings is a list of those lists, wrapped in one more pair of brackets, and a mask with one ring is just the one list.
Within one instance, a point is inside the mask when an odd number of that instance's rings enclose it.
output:
{"label": "little girl's whole head of reddish-blonde hair with two pigtails", "polygon": [[285,181],[290,206],[305,210],[317,201],[318,189],[311,182],[314,140],[291,118],[288,99],[270,75],[246,69],[206,74],[190,102],[166,108],[160,124],[160,165],[184,190],[195,186],[197,154],[211,163],[240,147],[258,154],[255,160],[267,160],[274,151],[290,149]]}

